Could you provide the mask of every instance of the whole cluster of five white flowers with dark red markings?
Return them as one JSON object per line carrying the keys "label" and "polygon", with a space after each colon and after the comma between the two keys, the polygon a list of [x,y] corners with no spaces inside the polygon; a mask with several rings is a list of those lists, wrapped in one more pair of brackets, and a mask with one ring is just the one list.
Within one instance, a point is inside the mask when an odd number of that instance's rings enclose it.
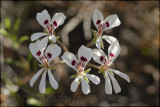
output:
{"label": "whole cluster of five white flowers with dark red markings", "polygon": [[[61,48],[56,44],[56,41],[59,37],[55,35],[55,29],[64,23],[66,17],[63,13],[56,13],[51,19],[48,11],[43,10],[41,13],[37,14],[36,19],[39,24],[45,28],[45,30],[44,32],[34,33],[33,35],[31,35],[31,41],[36,40],[36,42],[31,43],[29,45],[29,49],[32,55],[41,63],[40,66],[42,67],[42,69],[32,77],[32,79],[30,80],[30,86],[32,87],[37,78],[42,74],[39,91],[41,93],[45,93],[45,79],[47,73],[51,86],[54,89],[58,88],[58,83],[51,73],[51,69],[54,69],[54,67],[50,65],[50,62],[61,54]],[[71,52],[64,52],[61,56],[62,60],[69,67],[75,69],[77,73],[71,76],[71,78],[75,78],[71,83],[71,91],[75,92],[79,84],[81,83],[82,92],[84,94],[88,94],[90,93],[89,80],[96,85],[100,83],[100,78],[98,76],[89,74],[91,69],[85,69],[89,61],[93,58],[95,62],[101,65],[99,67],[99,73],[102,73],[104,75],[106,94],[112,94],[112,85],[115,93],[119,93],[121,91],[121,88],[117,80],[114,78],[114,73],[124,78],[128,82],[130,82],[130,79],[126,74],[110,68],[113,61],[119,55],[121,48],[118,40],[115,37],[102,34],[104,30],[117,27],[121,22],[118,16],[115,14],[108,16],[104,20],[102,13],[96,9],[93,12],[93,23],[96,26],[97,31],[92,30],[95,37],[91,41],[91,44],[96,44],[97,49],[91,49],[82,45],[78,50],[78,58]],[[42,39],[39,40],[40,38]],[[102,50],[104,49],[102,39],[106,40],[109,43],[108,56]],[[51,44],[48,45],[48,43]]]}

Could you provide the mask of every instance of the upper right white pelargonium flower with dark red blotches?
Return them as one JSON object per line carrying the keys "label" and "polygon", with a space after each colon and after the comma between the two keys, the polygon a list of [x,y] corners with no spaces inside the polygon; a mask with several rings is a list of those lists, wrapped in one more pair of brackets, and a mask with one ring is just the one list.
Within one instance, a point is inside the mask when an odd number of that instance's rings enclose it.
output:
{"label": "upper right white pelargonium flower with dark red blotches", "polygon": [[104,20],[102,13],[98,9],[93,12],[93,23],[98,30],[97,32],[93,31],[93,34],[95,36],[93,43],[96,42],[96,47],[99,49],[101,47],[103,48],[102,39],[105,38],[104,36],[102,36],[103,31],[117,27],[121,24],[116,14],[110,15]]}

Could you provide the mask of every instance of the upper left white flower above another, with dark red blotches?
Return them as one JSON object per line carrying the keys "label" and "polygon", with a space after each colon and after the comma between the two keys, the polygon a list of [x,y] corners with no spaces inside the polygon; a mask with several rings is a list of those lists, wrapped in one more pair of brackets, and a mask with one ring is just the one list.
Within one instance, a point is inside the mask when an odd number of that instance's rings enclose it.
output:
{"label": "upper left white flower above another, with dark red blotches", "polygon": [[[46,36],[42,39],[44,42],[48,42],[48,39],[56,43],[56,36],[54,35],[54,30],[64,23],[66,16],[63,13],[56,13],[51,19],[47,10],[43,10],[41,13],[37,13],[36,16],[37,21],[41,26],[43,26],[46,30],[44,32],[38,32],[31,35],[31,41],[37,40],[42,36]],[[40,42],[42,44],[42,42]]]}

